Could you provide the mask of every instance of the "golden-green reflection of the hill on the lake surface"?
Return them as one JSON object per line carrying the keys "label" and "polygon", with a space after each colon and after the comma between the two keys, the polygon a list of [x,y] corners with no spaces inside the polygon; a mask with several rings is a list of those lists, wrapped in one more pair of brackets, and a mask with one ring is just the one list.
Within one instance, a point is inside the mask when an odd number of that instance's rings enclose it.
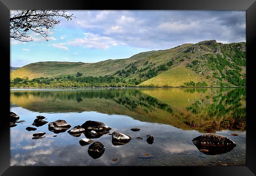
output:
{"label": "golden-green reflection of the hill on the lake surface", "polygon": [[[183,130],[246,128],[244,89],[127,89],[13,91],[11,102],[44,113],[98,111]],[[188,101],[189,100],[189,101]]]}

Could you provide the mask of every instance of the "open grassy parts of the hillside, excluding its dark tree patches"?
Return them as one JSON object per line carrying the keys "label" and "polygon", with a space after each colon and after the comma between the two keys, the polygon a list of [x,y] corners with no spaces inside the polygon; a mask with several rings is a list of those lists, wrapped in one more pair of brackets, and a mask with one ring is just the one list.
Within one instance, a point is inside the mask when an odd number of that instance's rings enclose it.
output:
{"label": "open grassy parts of the hillside, excluding its dark tree patches", "polygon": [[[198,48],[199,50],[191,51],[191,48]],[[168,50],[159,51],[149,51],[136,54],[128,59],[115,59],[106,60],[98,63],[72,63],[72,62],[38,62],[21,67],[18,70],[11,72],[11,80],[16,77],[24,78],[26,76],[29,79],[37,77],[48,77],[55,78],[58,76],[76,76],[77,72],[82,72],[83,76],[105,76],[113,75],[118,78],[122,78],[126,82],[130,79],[136,78],[141,79],[141,85],[154,84],[155,86],[168,85],[170,87],[179,87],[184,82],[194,81],[201,82],[206,81],[209,86],[219,86],[220,81],[213,77],[213,73],[220,75],[220,72],[216,69],[217,66],[214,63],[209,63],[207,59],[201,59],[201,56],[206,56],[207,54],[216,54],[219,52],[222,56],[225,54],[233,54],[234,48],[240,48],[243,50],[246,44],[243,43],[232,43],[232,44],[222,44],[216,43],[216,41],[202,41],[197,44],[182,44]],[[241,49],[242,48],[242,49]],[[222,53],[221,53],[222,52]],[[161,64],[166,64],[168,61],[174,59],[174,65],[168,67],[169,70],[159,71],[157,76],[149,79],[147,76],[139,76],[139,74],[147,74],[148,70],[139,72],[140,69],[144,69],[148,66],[151,68],[156,68]],[[198,74],[195,68],[186,68],[187,63],[191,63],[193,60],[199,59],[200,65],[198,65],[198,71],[203,71],[204,74]],[[227,58],[231,63],[234,63],[232,59]],[[246,59],[246,58],[245,58]],[[118,70],[131,69],[131,67],[126,68],[129,64],[133,64],[136,67],[134,73],[130,72],[129,76],[122,74],[115,74]],[[126,68],[126,69],[125,69]],[[240,67],[241,74],[246,74],[246,67]],[[230,68],[225,67],[223,73],[225,74],[225,69]],[[210,79],[206,79],[206,76],[210,76]],[[242,78],[242,77],[241,77]],[[226,79],[223,79],[224,83],[227,83]]]}

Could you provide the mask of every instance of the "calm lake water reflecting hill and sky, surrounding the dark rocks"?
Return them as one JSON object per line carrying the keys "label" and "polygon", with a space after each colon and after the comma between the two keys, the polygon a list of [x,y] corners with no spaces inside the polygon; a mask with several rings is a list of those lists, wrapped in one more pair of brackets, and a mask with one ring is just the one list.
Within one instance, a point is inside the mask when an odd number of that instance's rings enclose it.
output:
{"label": "calm lake water reflecting hill and sky, surrounding the dark rocks", "polygon": [[[11,166],[246,165],[246,88],[11,89],[10,100],[10,111],[25,120],[10,128]],[[33,126],[38,115],[47,122],[65,120],[70,129],[100,121],[112,128],[110,134],[132,139],[119,146],[109,134],[92,139],[105,146],[102,156],[93,159],[90,144],[79,143],[84,133],[75,137],[51,132],[48,123]],[[27,131],[28,126],[37,130]],[[45,137],[32,139],[36,132]],[[192,140],[204,133],[226,136],[236,146],[224,154],[200,152]],[[151,145],[148,134],[154,137]]]}

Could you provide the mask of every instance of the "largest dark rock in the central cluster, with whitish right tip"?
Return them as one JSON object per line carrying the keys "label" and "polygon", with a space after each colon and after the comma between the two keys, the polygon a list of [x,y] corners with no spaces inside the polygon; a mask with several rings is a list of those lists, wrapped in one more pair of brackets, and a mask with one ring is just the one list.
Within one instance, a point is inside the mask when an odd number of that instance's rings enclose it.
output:
{"label": "largest dark rock in the central cluster, with whitish right tip", "polygon": [[95,132],[102,132],[102,131],[109,131],[111,128],[106,126],[103,122],[97,122],[88,120],[85,123],[81,125],[82,128],[84,128],[86,131],[94,130]]}

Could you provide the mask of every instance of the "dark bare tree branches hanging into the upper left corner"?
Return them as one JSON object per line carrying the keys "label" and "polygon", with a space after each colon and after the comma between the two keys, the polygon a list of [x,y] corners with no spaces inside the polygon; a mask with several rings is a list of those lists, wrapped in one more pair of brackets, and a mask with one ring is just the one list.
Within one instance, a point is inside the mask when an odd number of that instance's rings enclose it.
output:
{"label": "dark bare tree branches hanging into the upper left corner", "polygon": [[[20,10],[10,15],[10,38],[20,42],[33,41],[29,32],[35,32],[48,39],[48,29],[60,23],[59,17],[72,20],[73,14],[65,10]],[[75,18],[75,17],[74,17]],[[29,39],[30,38],[30,39]]]}

